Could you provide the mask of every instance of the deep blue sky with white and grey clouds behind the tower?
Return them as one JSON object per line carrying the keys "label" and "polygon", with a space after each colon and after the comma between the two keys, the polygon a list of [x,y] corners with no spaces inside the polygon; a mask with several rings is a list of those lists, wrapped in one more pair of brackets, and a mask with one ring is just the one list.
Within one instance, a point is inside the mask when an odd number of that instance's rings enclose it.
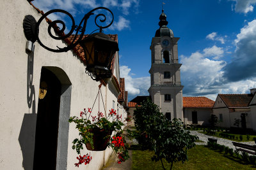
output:
{"label": "deep blue sky with white and grey clouds behind the tower", "polygon": [[[179,37],[183,96],[244,94],[256,88],[256,0],[163,0],[168,27]],[[157,0],[35,0],[40,10],[60,8],[76,24],[98,6],[113,11],[106,34],[118,34],[120,74],[129,100],[147,96],[150,87],[150,43],[159,28],[162,1]],[[52,15],[55,18],[67,18]],[[92,32],[88,21],[86,33]],[[68,20],[67,20],[68,22]]]}

